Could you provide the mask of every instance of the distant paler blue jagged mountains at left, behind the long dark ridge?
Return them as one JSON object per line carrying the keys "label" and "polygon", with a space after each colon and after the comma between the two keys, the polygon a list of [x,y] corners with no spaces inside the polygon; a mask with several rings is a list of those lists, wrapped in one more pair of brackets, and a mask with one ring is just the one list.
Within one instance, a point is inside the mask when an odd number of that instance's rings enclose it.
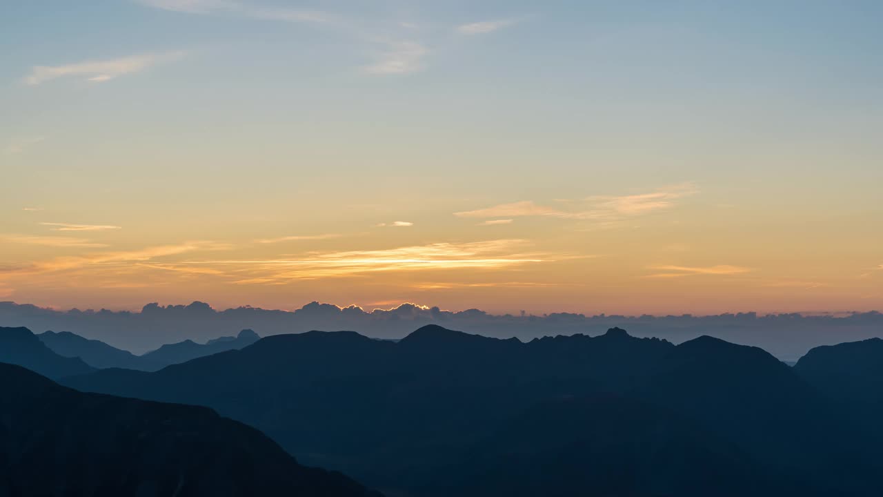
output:
{"label": "distant paler blue jagged mountains at left, behind the long dark ridge", "polygon": [[163,345],[142,356],[135,356],[129,351],[111,347],[102,341],[87,340],[70,332],[46,332],[37,336],[60,356],[79,357],[99,369],[124,368],[139,371],[161,370],[170,364],[184,363],[196,357],[210,356],[225,350],[244,348],[260,340],[260,336],[252,330],[242,330],[235,337],[208,340],[205,344],[185,340]]}

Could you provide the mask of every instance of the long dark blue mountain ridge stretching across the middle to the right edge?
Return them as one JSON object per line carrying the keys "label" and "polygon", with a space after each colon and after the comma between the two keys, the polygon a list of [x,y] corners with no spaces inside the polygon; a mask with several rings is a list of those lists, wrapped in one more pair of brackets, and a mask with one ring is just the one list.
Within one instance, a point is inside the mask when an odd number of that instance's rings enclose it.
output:
{"label": "long dark blue mountain ridge stretching across the middle to the right edge", "polygon": [[880,489],[878,439],[762,349],[711,337],[675,346],[616,328],[526,343],[437,325],[398,342],[309,332],[64,383],[209,406],[390,495]]}

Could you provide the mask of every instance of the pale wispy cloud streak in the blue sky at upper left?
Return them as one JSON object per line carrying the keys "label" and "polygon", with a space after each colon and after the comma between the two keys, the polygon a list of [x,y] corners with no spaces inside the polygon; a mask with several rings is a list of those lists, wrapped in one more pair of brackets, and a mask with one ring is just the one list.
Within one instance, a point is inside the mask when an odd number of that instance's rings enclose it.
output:
{"label": "pale wispy cloud streak in the blue sky at upper left", "polygon": [[140,73],[148,68],[184,58],[185,51],[146,53],[107,60],[92,60],[65,65],[34,65],[25,78],[30,86],[65,76],[86,76],[92,82],[112,80],[124,74]]}

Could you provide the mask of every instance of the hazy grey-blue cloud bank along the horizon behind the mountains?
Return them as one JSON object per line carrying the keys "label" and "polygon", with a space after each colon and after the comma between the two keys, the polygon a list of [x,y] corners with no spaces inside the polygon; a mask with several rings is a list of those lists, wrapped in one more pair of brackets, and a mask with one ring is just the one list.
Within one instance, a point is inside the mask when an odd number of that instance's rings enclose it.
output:
{"label": "hazy grey-blue cloud bank along the horizon behind the mountains", "polygon": [[34,333],[72,332],[141,354],[182,340],[204,343],[252,329],[260,336],[311,330],[353,330],[375,338],[401,339],[421,325],[443,325],[489,337],[531,340],[574,333],[600,334],[627,328],[633,336],[660,337],[674,343],[711,335],[764,348],[786,361],[796,361],[810,348],[879,336],[883,314],[855,312],[807,316],[753,312],[715,316],[585,316],[573,313],[494,315],[482,310],[440,310],[404,303],[389,310],[363,310],[310,302],[298,310],[256,307],[215,310],[208,303],[161,306],[149,303],[140,312],[51,310],[30,304],[0,302],[0,323],[26,326]]}

